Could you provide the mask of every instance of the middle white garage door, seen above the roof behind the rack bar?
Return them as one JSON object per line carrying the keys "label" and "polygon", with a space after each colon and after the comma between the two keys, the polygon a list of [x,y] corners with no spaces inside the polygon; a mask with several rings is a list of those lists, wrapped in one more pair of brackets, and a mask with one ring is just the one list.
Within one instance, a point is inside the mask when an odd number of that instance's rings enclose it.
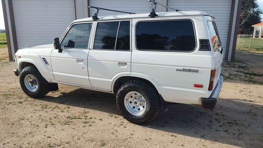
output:
{"label": "middle white garage door, seen above the roof behind the rack bar", "polygon": [[[134,13],[150,13],[152,4],[148,0],[90,0],[89,4],[95,7],[128,11]],[[94,15],[96,9],[90,8],[90,17]],[[124,14],[113,11],[100,10],[98,16]]]}

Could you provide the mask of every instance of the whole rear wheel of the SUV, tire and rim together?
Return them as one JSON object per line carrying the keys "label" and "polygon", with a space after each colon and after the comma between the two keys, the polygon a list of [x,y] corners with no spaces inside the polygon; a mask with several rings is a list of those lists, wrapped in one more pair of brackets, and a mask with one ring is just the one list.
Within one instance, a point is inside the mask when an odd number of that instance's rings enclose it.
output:
{"label": "whole rear wheel of the SUV, tire and rim together", "polygon": [[156,89],[142,80],[125,82],[116,94],[117,109],[128,121],[145,124],[161,111],[161,102]]}

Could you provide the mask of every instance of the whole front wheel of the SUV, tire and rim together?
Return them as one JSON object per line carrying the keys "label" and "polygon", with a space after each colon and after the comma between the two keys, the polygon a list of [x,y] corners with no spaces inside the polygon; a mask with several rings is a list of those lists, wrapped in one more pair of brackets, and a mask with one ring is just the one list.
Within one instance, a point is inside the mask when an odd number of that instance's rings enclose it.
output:
{"label": "whole front wheel of the SUV, tire and rim together", "polygon": [[35,66],[24,68],[19,75],[19,82],[23,91],[31,98],[40,98],[49,92],[48,82]]}

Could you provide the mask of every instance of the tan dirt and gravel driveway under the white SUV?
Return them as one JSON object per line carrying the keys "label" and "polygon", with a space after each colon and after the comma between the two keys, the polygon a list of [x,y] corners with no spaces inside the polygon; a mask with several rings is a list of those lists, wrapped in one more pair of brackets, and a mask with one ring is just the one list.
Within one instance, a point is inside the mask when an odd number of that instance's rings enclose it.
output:
{"label": "tan dirt and gravel driveway under the white SUV", "polygon": [[12,72],[16,64],[1,60],[0,147],[263,148],[263,56],[236,56],[237,62],[224,63],[213,111],[173,104],[147,125],[120,116],[112,94],[59,85],[44,98],[29,98]]}

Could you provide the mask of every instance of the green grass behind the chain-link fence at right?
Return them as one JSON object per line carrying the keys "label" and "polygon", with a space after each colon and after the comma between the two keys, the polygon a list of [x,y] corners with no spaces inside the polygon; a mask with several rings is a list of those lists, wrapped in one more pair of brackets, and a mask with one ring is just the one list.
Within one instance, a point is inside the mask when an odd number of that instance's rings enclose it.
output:
{"label": "green grass behind the chain-link fence at right", "polygon": [[[236,42],[237,46],[249,48],[249,44],[250,44],[250,38],[246,38],[246,37],[240,37],[239,39],[237,38],[237,42]],[[262,39],[252,38],[251,48],[263,51],[263,38]]]}

